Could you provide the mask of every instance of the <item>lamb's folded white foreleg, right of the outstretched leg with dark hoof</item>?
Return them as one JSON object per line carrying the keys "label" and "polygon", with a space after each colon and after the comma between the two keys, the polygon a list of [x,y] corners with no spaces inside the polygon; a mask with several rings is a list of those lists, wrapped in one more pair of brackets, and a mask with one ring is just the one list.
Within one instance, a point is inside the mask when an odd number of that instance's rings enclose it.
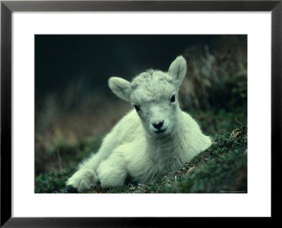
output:
{"label": "lamb's folded white foreleg, right of the outstretched leg with dark hoof", "polygon": [[123,186],[128,175],[123,156],[116,152],[113,152],[107,160],[99,165],[97,173],[103,189]]}

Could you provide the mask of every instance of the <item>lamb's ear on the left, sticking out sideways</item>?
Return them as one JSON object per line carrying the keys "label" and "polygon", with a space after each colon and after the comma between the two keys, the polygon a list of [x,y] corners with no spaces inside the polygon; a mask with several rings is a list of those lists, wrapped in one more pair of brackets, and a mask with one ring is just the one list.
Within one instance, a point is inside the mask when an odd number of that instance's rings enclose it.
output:
{"label": "lamb's ear on the left, sticking out sideways", "polygon": [[119,98],[129,101],[131,93],[130,82],[122,79],[121,77],[110,77],[109,87]]}

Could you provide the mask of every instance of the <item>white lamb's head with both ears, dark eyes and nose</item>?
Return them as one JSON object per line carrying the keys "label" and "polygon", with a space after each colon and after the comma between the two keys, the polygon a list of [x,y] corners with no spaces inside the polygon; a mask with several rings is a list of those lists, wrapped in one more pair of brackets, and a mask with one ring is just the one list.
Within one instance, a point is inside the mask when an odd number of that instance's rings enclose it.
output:
{"label": "white lamb's head with both ears, dark eyes and nose", "polygon": [[135,107],[148,134],[164,137],[176,125],[178,112],[178,90],[186,74],[186,61],[178,56],[168,69],[147,70],[137,75],[132,82],[121,77],[111,77],[109,87],[116,96]]}

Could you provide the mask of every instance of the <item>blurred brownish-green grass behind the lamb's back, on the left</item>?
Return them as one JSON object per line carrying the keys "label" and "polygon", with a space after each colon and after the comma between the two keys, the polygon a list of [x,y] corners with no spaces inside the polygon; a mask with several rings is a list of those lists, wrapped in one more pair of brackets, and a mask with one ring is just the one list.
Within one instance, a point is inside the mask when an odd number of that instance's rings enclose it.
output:
{"label": "blurred brownish-green grass behind the lamb's back, on the left", "polygon": [[78,163],[79,158],[89,156],[104,134],[130,110],[128,103],[99,93],[87,95],[75,108],[71,108],[68,99],[63,99],[68,106],[61,105],[60,100],[55,94],[49,95],[44,108],[36,112],[36,174],[60,170],[70,165],[71,157]]}

